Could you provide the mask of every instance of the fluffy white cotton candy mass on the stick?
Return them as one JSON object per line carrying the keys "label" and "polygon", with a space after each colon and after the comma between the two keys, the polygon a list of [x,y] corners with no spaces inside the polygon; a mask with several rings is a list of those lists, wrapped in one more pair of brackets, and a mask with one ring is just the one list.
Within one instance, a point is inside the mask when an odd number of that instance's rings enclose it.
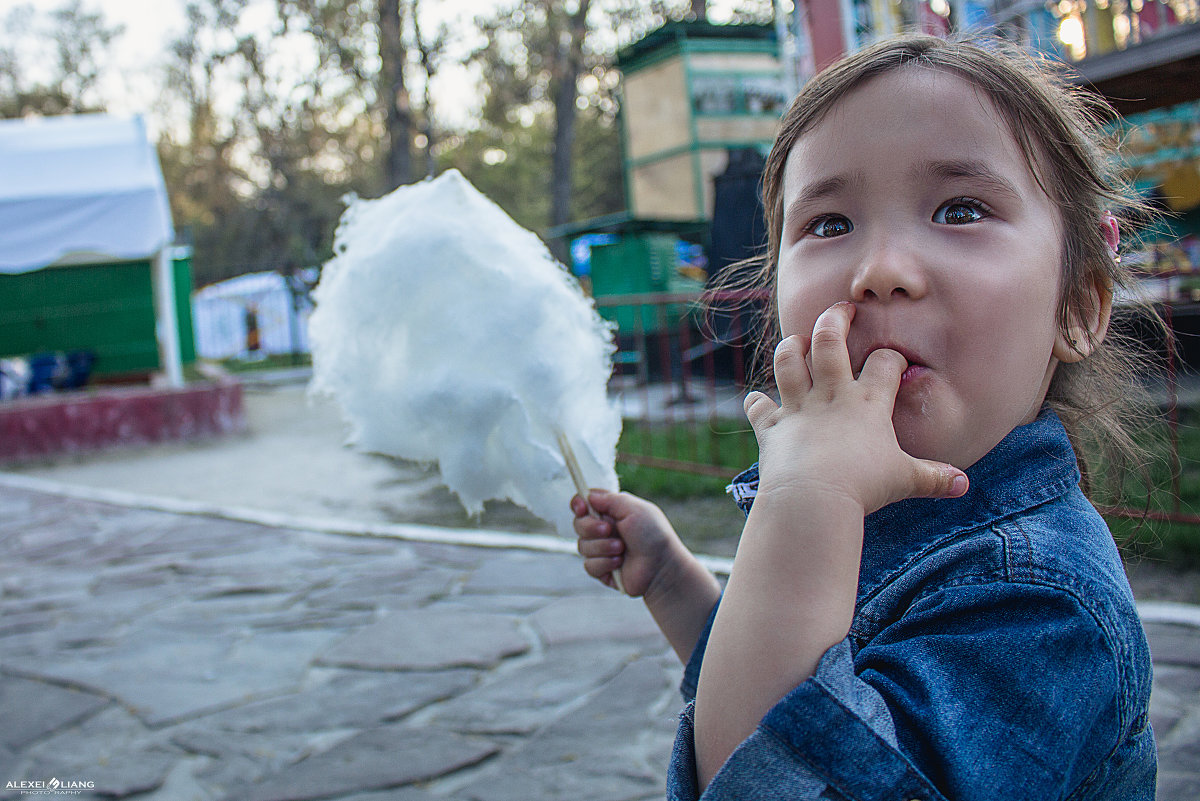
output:
{"label": "fluffy white cotton candy mass on the stick", "polygon": [[617,489],[612,329],[538,236],[451,170],[354,199],[313,291],[313,392],[367,452],[436,463],[472,514],[511,500],[574,536],[576,487]]}

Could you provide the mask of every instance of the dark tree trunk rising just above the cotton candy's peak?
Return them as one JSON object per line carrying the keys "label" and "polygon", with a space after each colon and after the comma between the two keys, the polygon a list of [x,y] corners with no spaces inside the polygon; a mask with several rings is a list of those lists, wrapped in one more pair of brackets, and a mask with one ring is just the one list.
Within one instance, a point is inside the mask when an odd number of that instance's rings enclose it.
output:
{"label": "dark tree trunk rising just above the cotton candy's peak", "polygon": [[384,106],[384,191],[413,180],[413,109],[404,86],[402,0],[379,0],[379,96]]}

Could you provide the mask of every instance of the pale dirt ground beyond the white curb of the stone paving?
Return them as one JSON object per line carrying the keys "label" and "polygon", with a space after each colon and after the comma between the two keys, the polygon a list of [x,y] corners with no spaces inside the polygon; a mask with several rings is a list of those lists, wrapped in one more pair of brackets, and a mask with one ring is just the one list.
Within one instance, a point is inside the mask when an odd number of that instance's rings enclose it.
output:
{"label": "pale dirt ground beyond the white curb of the stone paving", "polygon": [[[305,385],[250,383],[244,435],[109,450],[10,468],[14,472],[86,487],[118,489],[372,523],[420,523],[454,528],[548,532],[544,522],[512,504],[490,504],[469,518],[437,472],[396,459],[354,452],[346,427],[328,401]],[[727,496],[656,500],[697,553],[732,556],[743,517]],[[1148,560],[1127,571],[1142,601],[1200,603],[1200,570]]]}

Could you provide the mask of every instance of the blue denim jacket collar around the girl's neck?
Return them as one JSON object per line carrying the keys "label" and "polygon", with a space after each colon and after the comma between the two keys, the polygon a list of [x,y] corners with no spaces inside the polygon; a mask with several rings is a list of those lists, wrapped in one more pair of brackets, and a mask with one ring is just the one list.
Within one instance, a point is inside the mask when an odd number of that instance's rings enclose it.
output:
{"label": "blue denim jacket collar around the girl's neck", "polygon": [[[929,547],[1021,513],[1078,487],[1075,452],[1062,421],[1049,406],[1013,429],[966,470],[962,498],[911,498],[869,514],[863,525],[859,592],[870,594]],[[758,489],[758,465],[738,475],[730,493],[749,514]]]}

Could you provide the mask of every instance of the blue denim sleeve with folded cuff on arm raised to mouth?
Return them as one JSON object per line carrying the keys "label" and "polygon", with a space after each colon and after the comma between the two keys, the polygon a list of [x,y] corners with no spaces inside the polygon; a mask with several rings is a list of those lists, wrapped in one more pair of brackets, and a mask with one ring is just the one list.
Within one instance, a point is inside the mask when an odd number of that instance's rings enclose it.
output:
{"label": "blue denim sleeve with folded cuff on arm raised to mouth", "polygon": [[[830,649],[702,797],[1074,797],[1120,741],[1117,674],[1111,639],[1061,589],[941,590],[857,654],[850,639]],[[691,710],[673,799],[701,797]]]}

